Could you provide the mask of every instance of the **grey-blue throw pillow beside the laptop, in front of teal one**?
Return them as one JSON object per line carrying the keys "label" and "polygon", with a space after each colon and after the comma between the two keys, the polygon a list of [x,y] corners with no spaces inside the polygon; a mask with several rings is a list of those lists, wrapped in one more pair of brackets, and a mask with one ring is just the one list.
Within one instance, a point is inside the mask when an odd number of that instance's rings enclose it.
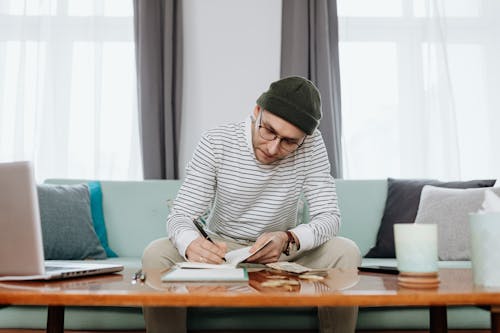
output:
{"label": "grey-blue throw pillow beside the laptop, in front of teal one", "polygon": [[105,259],[90,210],[86,184],[38,185],[45,259]]}

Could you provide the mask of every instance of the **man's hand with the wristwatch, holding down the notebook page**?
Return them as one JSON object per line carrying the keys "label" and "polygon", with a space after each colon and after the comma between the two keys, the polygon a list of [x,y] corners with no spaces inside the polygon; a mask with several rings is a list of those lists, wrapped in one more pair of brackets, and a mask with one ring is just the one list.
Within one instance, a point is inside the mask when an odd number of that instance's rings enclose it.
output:
{"label": "man's hand with the wristwatch, holding down the notebook page", "polygon": [[288,236],[284,231],[274,231],[266,232],[257,238],[255,244],[250,248],[250,252],[255,252],[263,244],[265,244],[269,239],[271,242],[266,245],[259,252],[252,255],[246,260],[246,262],[252,262],[257,264],[267,264],[270,262],[276,262],[279,260],[281,253],[283,252]]}

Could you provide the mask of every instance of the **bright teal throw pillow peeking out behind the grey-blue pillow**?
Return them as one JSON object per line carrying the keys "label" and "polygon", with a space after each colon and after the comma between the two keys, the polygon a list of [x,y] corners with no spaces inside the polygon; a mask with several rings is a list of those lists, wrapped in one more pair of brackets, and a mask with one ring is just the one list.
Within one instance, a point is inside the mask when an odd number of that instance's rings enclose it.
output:
{"label": "bright teal throw pillow peeking out behind the grey-blue pillow", "polygon": [[88,182],[90,194],[90,210],[92,212],[92,222],[94,230],[101,242],[102,247],[106,251],[108,258],[115,258],[118,255],[109,247],[108,233],[106,231],[106,223],[104,221],[104,212],[102,209],[102,190],[101,183],[97,181]]}

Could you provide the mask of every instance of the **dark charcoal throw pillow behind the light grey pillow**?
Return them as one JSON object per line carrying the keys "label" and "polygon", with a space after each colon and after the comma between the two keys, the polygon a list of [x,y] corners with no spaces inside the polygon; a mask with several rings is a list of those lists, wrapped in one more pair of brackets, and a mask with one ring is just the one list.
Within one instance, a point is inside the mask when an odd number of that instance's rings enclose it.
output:
{"label": "dark charcoal throw pillow behind the light grey pillow", "polygon": [[491,187],[495,180],[441,182],[432,179],[394,179],[387,182],[387,200],[384,215],[377,232],[377,241],[368,251],[368,258],[394,258],[394,223],[413,223],[417,215],[420,193],[425,185],[447,188]]}

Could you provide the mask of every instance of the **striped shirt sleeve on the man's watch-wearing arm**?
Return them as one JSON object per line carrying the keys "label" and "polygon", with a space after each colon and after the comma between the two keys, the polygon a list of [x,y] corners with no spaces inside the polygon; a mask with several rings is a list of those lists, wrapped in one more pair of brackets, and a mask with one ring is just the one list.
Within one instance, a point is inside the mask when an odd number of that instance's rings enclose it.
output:
{"label": "striped shirt sleeve on the man's watch-wearing arm", "polygon": [[340,229],[335,181],[330,174],[330,161],[319,131],[312,137],[305,174],[303,191],[310,221],[292,230],[300,241],[299,252],[320,246],[335,237]]}

